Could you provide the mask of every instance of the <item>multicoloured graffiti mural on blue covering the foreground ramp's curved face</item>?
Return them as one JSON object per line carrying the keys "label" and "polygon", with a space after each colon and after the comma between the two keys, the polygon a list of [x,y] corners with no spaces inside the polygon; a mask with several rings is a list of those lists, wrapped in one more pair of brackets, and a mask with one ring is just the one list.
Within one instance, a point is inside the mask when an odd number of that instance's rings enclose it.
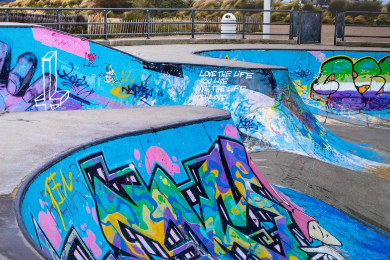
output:
{"label": "multicoloured graffiti mural on blue covering the foreground ramp's curved face", "polygon": [[[65,157],[24,196],[31,238],[54,260],[361,259],[343,243],[355,229],[335,237],[269,184],[232,123],[121,137]],[[171,138],[185,132],[193,136]]]}

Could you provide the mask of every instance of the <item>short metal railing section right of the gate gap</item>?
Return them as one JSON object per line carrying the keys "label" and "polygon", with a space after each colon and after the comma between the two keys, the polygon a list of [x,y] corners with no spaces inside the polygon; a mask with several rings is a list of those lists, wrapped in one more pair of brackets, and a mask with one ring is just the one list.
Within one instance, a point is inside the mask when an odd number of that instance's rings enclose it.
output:
{"label": "short metal railing section right of the gate gap", "polygon": [[359,38],[390,38],[386,35],[351,35],[345,34],[345,27],[390,27],[390,25],[381,25],[381,24],[346,24],[345,17],[348,14],[390,14],[390,12],[365,12],[365,11],[345,11],[345,12],[337,12],[336,11],[336,19],[335,19],[335,33],[334,33],[334,45],[336,45],[336,38],[341,38],[341,41],[346,41],[345,37],[359,37]]}

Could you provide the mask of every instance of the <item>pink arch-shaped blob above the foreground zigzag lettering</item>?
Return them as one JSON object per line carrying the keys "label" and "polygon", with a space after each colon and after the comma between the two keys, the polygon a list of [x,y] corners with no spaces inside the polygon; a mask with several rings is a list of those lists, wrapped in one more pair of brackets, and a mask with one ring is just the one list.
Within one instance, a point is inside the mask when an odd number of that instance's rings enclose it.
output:
{"label": "pink arch-shaped blob above the foreground zigzag lettering", "polygon": [[180,172],[179,165],[173,163],[168,154],[158,146],[151,146],[146,151],[145,166],[148,174],[150,174],[154,162],[164,167],[172,176],[174,173]]}

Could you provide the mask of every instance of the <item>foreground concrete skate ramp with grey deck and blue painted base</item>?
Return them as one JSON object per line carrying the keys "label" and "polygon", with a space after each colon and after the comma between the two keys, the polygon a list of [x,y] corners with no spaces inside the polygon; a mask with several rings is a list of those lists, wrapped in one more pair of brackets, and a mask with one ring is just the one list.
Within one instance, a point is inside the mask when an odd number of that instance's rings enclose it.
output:
{"label": "foreground concrete skate ramp with grey deck and blue painted base", "polygon": [[[226,111],[186,106],[3,117],[29,126],[11,139],[30,138],[40,161],[51,158],[42,164],[23,154],[13,158],[15,168],[40,164],[18,188],[15,211],[23,235],[45,259],[389,258],[384,235],[269,184]],[[88,121],[70,130],[66,120],[80,117]],[[113,133],[113,125],[118,134],[98,138]],[[120,130],[129,125],[131,131]],[[51,142],[41,142],[41,131],[51,133]],[[70,132],[92,141],[69,149],[81,141]],[[8,232],[8,241],[20,244],[19,233]],[[34,259],[31,251],[9,245],[5,253]]]}

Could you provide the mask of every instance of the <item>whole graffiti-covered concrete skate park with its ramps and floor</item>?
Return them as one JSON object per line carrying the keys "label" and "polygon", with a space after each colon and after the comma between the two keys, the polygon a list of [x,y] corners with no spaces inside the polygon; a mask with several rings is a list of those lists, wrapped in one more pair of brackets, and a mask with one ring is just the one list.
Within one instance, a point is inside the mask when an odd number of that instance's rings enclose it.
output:
{"label": "whole graffiti-covered concrete skate park with its ramps and floor", "polygon": [[[6,259],[388,257],[388,49],[110,48],[37,25],[0,30]],[[358,87],[354,65],[375,58],[364,69],[378,65],[382,89],[362,94],[360,114],[309,99],[329,95],[309,85],[333,56],[350,57]]]}

